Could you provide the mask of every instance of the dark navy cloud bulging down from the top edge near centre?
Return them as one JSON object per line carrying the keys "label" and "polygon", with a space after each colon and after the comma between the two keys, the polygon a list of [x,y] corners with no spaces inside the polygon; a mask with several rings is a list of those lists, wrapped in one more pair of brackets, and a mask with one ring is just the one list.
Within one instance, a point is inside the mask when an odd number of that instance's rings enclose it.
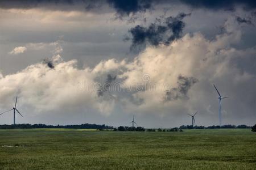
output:
{"label": "dark navy cloud bulging down from the top edge near centre", "polygon": [[117,11],[119,17],[144,12],[152,7],[151,0],[108,0],[108,3]]}

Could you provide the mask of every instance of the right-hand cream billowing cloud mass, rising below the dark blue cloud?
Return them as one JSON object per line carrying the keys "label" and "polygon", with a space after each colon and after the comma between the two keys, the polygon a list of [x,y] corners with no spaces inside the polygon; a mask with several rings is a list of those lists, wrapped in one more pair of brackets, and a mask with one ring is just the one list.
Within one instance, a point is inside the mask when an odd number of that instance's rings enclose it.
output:
{"label": "right-hand cream billowing cloud mass, rising below the dark blue cloud", "polygon": [[[256,84],[255,74],[242,71],[237,66],[236,60],[255,56],[256,49],[255,47],[246,50],[232,48],[232,45],[239,43],[240,39],[240,29],[229,27],[226,33],[216,36],[216,39],[211,41],[205,39],[201,33],[194,33],[185,35],[170,46],[146,48],[133,62],[127,64],[128,71],[120,76],[126,78],[124,81],[126,87],[136,88],[134,82],[144,84],[145,88],[148,84],[159,84],[160,87],[158,90],[148,88],[137,92],[134,96],[137,100],[142,99],[143,104],[135,107],[129,104],[129,109],[156,114],[181,114],[195,112],[201,108],[201,112],[212,114],[212,111],[209,112],[209,105],[215,104],[213,102],[215,100],[212,99],[215,99],[216,92],[212,84],[216,84],[225,92],[224,95],[232,98],[229,99],[230,108],[224,107],[223,112],[229,116],[231,114],[237,116],[236,112],[243,113],[247,109],[250,110],[247,114],[253,114],[254,108],[245,106],[254,100],[255,92],[251,94],[254,90],[249,84]],[[145,82],[144,75],[150,75],[150,80]],[[167,90],[178,86],[179,75],[196,78],[199,82],[188,88],[189,100],[180,98],[164,101]],[[247,97],[243,101],[238,101],[241,97],[241,89],[245,87],[249,94],[246,94]],[[238,103],[236,107],[233,107],[234,103]]]}

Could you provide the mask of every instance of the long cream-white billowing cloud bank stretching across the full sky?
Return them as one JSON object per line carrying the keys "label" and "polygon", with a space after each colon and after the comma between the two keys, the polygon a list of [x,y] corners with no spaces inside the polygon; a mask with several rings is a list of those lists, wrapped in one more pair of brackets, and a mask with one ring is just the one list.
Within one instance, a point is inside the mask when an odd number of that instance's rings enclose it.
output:
{"label": "long cream-white billowing cloud bank stretching across the full sky", "polygon": [[[11,96],[18,94],[23,105],[37,111],[81,107],[108,115],[118,105],[137,113],[181,114],[200,108],[201,112],[212,114],[212,105],[217,105],[212,84],[216,83],[220,91],[230,97],[225,101],[226,115],[244,109],[251,115],[254,108],[247,103],[255,98],[254,86],[251,86],[256,84],[255,75],[241,70],[234,61],[255,56],[256,48],[233,48],[232,44],[241,39],[241,31],[232,27],[226,26],[226,33],[214,40],[206,39],[201,33],[187,34],[169,46],[147,47],[131,62],[109,59],[92,69],[78,69],[76,60],[63,61],[57,54],[62,48],[55,44],[54,69],[36,63],[19,73],[0,76],[0,100],[3,101],[0,107],[12,104]],[[131,87],[131,91],[105,92],[99,96],[94,84],[99,76],[106,80],[108,74],[117,75],[115,82],[121,82],[126,90]],[[166,100],[167,91],[179,86],[180,75],[198,82],[190,85],[184,82],[181,92],[187,97]],[[150,86],[152,84],[156,86]],[[246,94],[246,99],[238,101],[246,93],[241,87],[250,93]],[[231,101],[237,103],[236,107],[231,107],[234,105]]]}

